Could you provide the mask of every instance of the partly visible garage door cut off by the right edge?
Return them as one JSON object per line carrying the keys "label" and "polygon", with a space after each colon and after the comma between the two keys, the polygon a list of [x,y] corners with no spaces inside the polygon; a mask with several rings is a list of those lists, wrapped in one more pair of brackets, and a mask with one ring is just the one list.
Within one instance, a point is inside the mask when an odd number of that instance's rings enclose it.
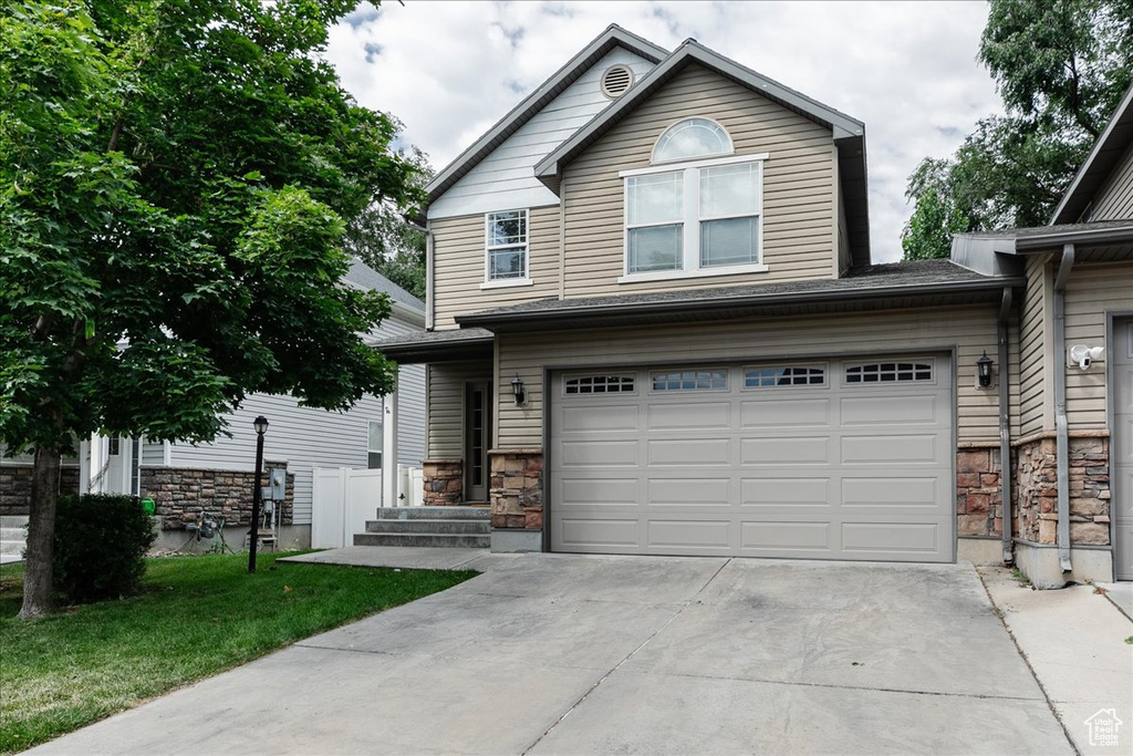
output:
{"label": "partly visible garage door cut off by the right edge", "polygon": [[1114,328],[1114,560],[1118,580],[1133,580],[1133,321]]}

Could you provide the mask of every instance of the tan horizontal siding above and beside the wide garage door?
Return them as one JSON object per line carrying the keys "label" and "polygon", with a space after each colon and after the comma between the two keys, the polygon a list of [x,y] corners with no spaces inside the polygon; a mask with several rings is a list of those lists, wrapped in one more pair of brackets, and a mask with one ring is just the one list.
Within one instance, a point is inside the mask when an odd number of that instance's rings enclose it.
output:
{"label": "tan horizontal siding above and beside the wide garage door", "polygon": [[[812,317],[744,320],[724,323],[596,329],[557,333],[501,334],[496,391],[510,393],[519,375],[527,401],[497,406],[497,447],[516,449],[543,444],[544,366],[640,366],[666,362],[732,363],[820,357],[832,351],[908,352],[957,349],[957,414],[960,441],[994,441],[998,431],[998,392],[974,388],[976,360],[986,349],[996,354],[998,308],[994,306],[846,313]],[[1017,325],[1013,337],[1017,338]],[[1014,350],[1013,350],[1014,351]],[[1019,365],[1008,367],[1012,414],[1019,411]],[[1015,430],[1017,432],[1017,428]]]}

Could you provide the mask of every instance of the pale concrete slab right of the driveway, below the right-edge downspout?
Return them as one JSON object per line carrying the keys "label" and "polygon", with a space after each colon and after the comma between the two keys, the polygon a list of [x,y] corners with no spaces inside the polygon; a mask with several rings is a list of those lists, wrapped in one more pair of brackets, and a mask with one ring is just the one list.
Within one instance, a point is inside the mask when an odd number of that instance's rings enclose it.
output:
{"label": "pale concrete slab right of the driveway, below the right-edge downspout", "polygon": [[[1034,591],[1003,568],[980,568],[993,601],[1082,754],[1133,753],[1133,621],[1128,583]],[[1114,710],[1116,746],[1091,744],[1087,719]]]}

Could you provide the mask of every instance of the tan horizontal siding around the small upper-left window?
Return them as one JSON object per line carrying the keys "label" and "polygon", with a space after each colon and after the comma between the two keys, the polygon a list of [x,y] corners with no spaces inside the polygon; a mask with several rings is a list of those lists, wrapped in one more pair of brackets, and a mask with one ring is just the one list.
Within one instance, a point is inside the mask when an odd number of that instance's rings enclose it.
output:
{"label": "tan horizontal siding around the small upper-left window", "polygon": [[528,213],[527,265],[533,286],[480,289],[486,254],[483,214],[433,220],[431,228],[437,329],[455,328],[454,315],[557,296],[559,207],[534,207]]}

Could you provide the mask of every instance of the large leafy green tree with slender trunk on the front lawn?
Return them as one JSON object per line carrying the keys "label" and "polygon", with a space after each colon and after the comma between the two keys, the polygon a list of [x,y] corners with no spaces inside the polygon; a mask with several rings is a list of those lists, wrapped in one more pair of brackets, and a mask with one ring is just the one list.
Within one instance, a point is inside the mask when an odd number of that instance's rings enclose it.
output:
{"label": "large leafy green tree with slender trunk on the front lawn", "polygon": [[22,617],[53,609],[60,458],[207,441],[250,392],[344,409],[394,367],[346,224],[412,201],[394,121],[322,59],[351,0],[0,10],[0,441],[34,451]]}

